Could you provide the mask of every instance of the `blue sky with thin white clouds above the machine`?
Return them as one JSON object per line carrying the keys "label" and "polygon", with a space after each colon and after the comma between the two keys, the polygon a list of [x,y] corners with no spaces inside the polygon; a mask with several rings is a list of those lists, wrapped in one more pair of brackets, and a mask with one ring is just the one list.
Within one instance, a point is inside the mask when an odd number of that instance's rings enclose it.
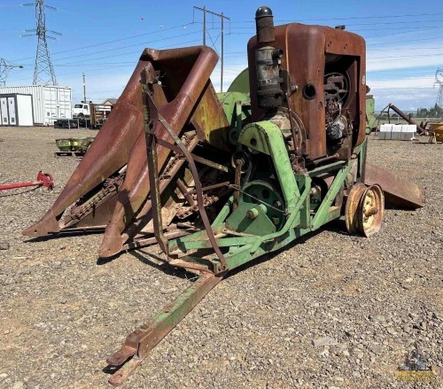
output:
{"label": "blue sky with thin white clouds above the machine", "polygon": [[[32,0],[25,0],[32,2]],[[254,13],[268,5],[277,24],[298,21],[337,26],[362,35],[368,50],[368,85],[377,109],[394,103],[403,110],[435,104],[438,88],[435,72],[443,67],[443,8],[436,0],[374,1],[256,1],[206,0],[200,3],[158,1],[61,1],[45,4],[48,29],[58,31],[49,41],[58,85],[73,89],[73,102],[82,99],[82,73],[87,98],[101,102],[118,97],[132,74],[144,47],[166,49],[202,43],[202,12],[193,5],[223,12],[225,23],[225,71],[223,87],[246,66],[246,43],[254,35]],[[208,15],[206,44],[221,51],[220,19]],[[35,28],[35,10],[19,0],[0,0],[0,58],[23,69],[13,69],[6,85],[31,85],[36,37],[21,37]],[[220,66],[212,76],[220,89]]]}

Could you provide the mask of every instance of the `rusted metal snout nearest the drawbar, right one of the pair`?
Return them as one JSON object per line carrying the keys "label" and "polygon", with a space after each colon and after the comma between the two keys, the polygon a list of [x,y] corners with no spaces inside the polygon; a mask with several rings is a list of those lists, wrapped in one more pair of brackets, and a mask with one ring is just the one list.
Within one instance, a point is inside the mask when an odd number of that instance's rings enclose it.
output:
{"label": "rusted metal snout nearest the drawbar, right one of the pair", "polygon": [[[165,71],[161,79],[164,89],[156,90],[154,98],[159,114],[174,128],[175,135],[178,136],[183,126],[190,121],[190,115],[199,98],[209,88],[209,76],[217,64],[218,56],[206,46],[196,46],[167,51],[146,49],[142,59],[152,64],[152,67],[159,68],[160,74],[162,68],[168,68],[168,72]],[[181,68],[180,72],[178,67]],[[167,102],[167,97],[159,98],[158,95],[163,94],[165,89],[171,93],[174,83],[179,84],[180,79],[175,77],[175,74],[182,77],[183,84],[173,100]],[[175,85],[174,87],[176,88]],[[155,124],[154,132],[160,139],[172,142],[159,121]],[[141,209],[151,189],[148,181],[146,143],[142,137],[144,136],[139,137],[139,142],[130,152],[127,178],[122,185],[113,217],[106,226],[105,237],[99,250],[100,257],[120,253],[125,243],[121,237],[123,231],[133,222],[135,216],[143,217],[151,209],[150,206]],[[159,147],[157,154],[160,169],[167,162],[170,151]],[[139,213],[140,210],[142,214]]]}

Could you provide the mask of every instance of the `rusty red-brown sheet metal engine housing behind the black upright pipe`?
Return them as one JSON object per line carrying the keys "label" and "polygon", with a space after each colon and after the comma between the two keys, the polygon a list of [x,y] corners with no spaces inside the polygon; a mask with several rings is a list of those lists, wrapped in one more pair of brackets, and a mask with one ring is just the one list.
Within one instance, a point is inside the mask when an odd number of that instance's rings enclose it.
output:
{"label": "rusty red-brown sheet metal engine housing behind the black upright pipe", "polygon": [[[318,159],[327,155],[323,83],[325,74],[336,71],[346,70],[349,75],[349,97],[343,109],[350,113],[354,122],[353,145],[361,144],[366,119],[364,39],[336,28],[299,23],[277,26],[275,34],[276,41],[272,46],[284,51],[282,68],[289,73],[291,86],[296,89],[289,93],[289,107],[300,115],[307,128],[307,158]],[[257,38],[253,36],[248,43],[250,69],[255,69],[257,47]],[[249,74],[253,121],[260,121],[264,111],[257,102],[257,74],[254,71]],[[315,87],[315,97],[303,96],[307,84]]]}

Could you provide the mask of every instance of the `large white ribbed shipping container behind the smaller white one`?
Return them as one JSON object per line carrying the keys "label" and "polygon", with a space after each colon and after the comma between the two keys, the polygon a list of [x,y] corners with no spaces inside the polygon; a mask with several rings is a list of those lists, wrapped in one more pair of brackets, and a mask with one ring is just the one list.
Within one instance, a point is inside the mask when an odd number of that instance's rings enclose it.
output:
{"label": "large white ribbed shipping container behind the smaller white one", "polygon": [[1,94],[19,93],[32,95],[34,122],[49,126],[57,119],[72,119],[71,88],[54,85],[30,85],[0,88]]}

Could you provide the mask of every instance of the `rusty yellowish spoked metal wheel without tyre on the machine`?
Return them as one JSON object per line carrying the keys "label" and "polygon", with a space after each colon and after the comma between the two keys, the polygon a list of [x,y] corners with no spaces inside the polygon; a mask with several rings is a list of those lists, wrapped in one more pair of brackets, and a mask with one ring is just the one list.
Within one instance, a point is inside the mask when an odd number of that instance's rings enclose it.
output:
{"label": "rusty yellowish spoked metal wheel without tyre on the machine", "polygon": [[385,196],[380,185],[355,184],[346,201],[346,230],[353,235],[370,237],[380,230],[383,214]]}

